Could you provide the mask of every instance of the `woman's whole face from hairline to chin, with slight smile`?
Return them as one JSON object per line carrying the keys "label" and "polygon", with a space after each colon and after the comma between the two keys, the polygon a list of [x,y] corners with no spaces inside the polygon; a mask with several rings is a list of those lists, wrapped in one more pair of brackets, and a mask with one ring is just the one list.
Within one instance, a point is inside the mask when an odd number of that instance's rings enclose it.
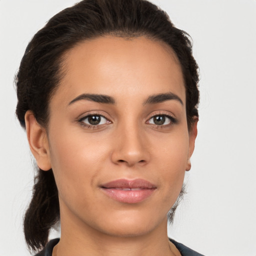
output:
{"label": "woman's whole face from hairline to chin, with slight smile", "polygon": [[61,229],[129,236],[166,225],[195,138],[175,54],[144,37],[105,36],[69,50],[63,70],[46,147]]}

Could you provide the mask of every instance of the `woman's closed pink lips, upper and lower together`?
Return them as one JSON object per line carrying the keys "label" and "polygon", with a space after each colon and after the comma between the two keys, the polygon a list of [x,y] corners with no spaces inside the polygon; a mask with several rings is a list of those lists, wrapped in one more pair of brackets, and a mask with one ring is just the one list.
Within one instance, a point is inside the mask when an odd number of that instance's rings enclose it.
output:
{"label": "woman's closed pink lips, upper and lower together", "polygon": [[145,179],[116,179],[100,185],[110,198],[124,203],[138,203],[148,198],[156,186]]}

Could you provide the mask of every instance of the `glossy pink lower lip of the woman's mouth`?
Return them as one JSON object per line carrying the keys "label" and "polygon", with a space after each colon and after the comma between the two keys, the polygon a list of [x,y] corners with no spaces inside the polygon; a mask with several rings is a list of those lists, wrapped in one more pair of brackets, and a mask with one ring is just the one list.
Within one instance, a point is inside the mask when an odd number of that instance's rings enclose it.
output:
{"label": "glossy pink lower lip of the woman's mouth", "polygon": [[102,190],[110,198],[125,203],[137,203],[148,198],[155,188],[143,188],[139,190],[121,190],[115,188],[104,188]]}

